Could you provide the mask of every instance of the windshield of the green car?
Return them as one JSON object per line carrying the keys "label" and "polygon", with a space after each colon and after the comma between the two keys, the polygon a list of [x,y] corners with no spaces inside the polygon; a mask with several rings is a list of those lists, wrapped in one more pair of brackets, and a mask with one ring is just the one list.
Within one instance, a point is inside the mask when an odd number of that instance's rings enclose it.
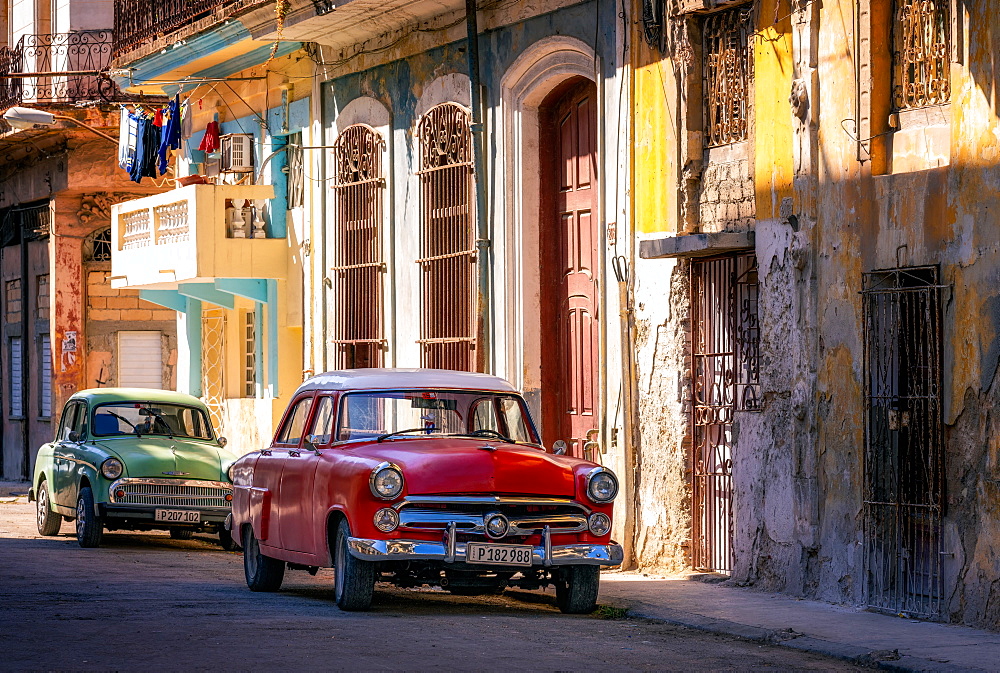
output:
{"label": "windshield of the green car", "polygon": [[95,437],[164,435],[212,439],[212,426],[204,411],[163,402],[102,404],[94,409],[91,428]]}

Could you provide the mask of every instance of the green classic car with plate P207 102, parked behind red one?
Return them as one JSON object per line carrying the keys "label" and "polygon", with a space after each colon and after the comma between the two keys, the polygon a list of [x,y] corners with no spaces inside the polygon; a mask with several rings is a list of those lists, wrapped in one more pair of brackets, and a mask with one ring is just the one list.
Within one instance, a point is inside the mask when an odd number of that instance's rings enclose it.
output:
{"label": "green classic car with plate P207 102, parked behind red one", "polygon": [[167,529],[178,539],[216,533],[232,508],[229,468],[239,457],[216,438],[201,400],[164,390],[98,388],[73,395],[55,439],[38,451],[28,498],[38,532],[58,535],[76,521],[81,547],[104,529]]}

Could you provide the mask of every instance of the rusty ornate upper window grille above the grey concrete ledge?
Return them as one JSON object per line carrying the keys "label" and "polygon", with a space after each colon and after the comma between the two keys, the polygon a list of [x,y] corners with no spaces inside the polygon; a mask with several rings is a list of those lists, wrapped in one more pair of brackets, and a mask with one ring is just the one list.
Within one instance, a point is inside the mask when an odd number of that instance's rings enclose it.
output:
{"label": "rusty ornate upper window grille above the grey concrete ledge", "polygon": [[702,77],[705,145],[718,147],[747,139],[753,94],[754,4],[705,17]]}

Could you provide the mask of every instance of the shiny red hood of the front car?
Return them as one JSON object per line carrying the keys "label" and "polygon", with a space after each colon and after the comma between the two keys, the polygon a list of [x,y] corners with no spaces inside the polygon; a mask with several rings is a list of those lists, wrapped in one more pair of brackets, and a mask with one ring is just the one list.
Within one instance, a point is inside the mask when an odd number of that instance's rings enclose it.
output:
{"label": "shiny red hood of the front car", "polygon": [[524,494],[572,497],[572,458],[530,446],[462,438],[399,438],[366,447],[403,470],[410,495]]}

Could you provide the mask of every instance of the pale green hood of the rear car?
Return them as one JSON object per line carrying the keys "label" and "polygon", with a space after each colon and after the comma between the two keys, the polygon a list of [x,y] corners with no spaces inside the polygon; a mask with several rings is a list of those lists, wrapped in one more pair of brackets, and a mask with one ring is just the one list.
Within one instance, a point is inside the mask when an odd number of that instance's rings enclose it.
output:
{"label": "pale green hood of the rear car", "polygon": [[100,446],[125,463],[126,477],[226,481],[223,463],[233,460],[217,446],[168,437],[105,440]]}

